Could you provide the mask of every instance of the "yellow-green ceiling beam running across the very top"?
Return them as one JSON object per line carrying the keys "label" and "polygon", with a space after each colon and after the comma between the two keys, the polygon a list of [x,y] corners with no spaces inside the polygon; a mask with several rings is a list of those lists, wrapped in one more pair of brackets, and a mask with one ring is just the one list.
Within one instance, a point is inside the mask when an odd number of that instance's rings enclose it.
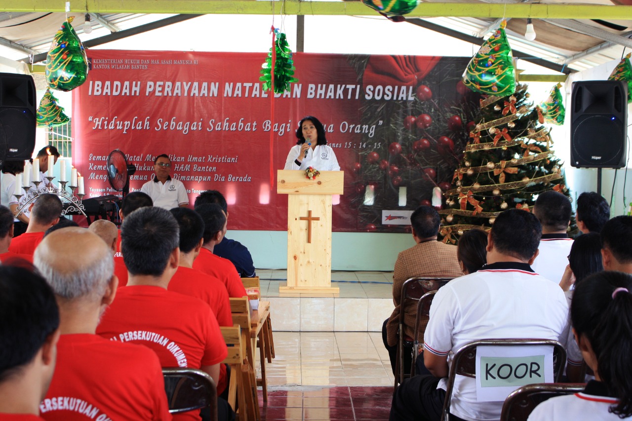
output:
{"label": "yellow-green ceiling beam running across the very top", "polygon": [[[282,8],[283,6],[283,8]],[[283,10],[282,10],[283,9]],[[64,12],[64,2],[0,0],[0,11]],[[71,3],[71,13],[185,13],[228,15],[377,15],[360,1],[253,0],[85,0]],[[632,19],[632,6],[565,3],[420,3],[408,16],[478,18]]]}

